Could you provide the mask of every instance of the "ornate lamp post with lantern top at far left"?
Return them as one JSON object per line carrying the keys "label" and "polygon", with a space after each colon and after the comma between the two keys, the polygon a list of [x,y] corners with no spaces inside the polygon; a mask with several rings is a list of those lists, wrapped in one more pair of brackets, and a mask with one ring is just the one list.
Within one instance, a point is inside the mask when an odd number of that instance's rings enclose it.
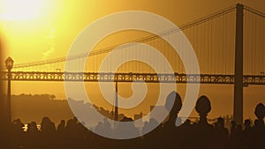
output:
{"label": "ornate lamp post with lantern top at far left", "polygon": [[8,83],[7,83],[7,123],[11,123],[11,69],[14,61],[11,57],[5,60],[5,67],[8,71]]}

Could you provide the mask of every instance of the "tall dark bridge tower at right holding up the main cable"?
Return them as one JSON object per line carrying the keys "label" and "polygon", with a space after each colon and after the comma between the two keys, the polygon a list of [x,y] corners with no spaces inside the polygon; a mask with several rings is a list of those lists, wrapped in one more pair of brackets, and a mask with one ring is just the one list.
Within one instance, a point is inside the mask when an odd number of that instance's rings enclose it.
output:
{"label": "tall dark bridge tower at right holding up the main cable", "polygon": [[243,123],[243,9],[242,4],[237,4],[233,118],[238,124]]}

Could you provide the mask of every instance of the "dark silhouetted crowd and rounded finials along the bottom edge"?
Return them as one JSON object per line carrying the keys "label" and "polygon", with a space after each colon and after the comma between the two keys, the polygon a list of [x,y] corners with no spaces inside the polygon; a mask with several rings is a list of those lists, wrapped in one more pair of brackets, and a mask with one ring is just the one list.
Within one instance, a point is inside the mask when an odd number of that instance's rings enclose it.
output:
{"label": "dark silhouetted crowd and rounded finials along the bottom edge", "polygon": [[[257,119],[254,124],[245,120],[244,125],[231,122],[231,129],[224,127],[224,120],[219,117],[216,123],[209,124],[207,115],[211,110],[210,101],[206,96],[201,96],[196,102],[196,111],[200,120],[191,123],[186,119],[184,123],[178,123],[178,112],[182,107],[182,101],[178,93],[172,92],[166,99],[165,108],[170,110],[169,120],[159,124],[155,119],[150,119],[139,130],[134,126],[116,129],[111,127],[108,119],[103,119],[95,127],[96,132],[112,133],[115,130],[123,130],[126,133],[139,135],[132,139],[110,139],[96,135],[92,130],[87,130],[84,123],[79,123],[76,117],[65,122],[62,120],[56,127],[48,117],[43,117],[41,127],[37,123],[24,123],[15,120],[8,127],[1,127],[1,148],[22,149],[70,149],[70,148],[179,148],[179,149],[264,149],[265,148],[265,106],[259,103],[254,111]],[[169,108],[168,102],[173,101],[173,107]],[[133,122],[132,118],[125,117],[122,122]],[[155,130],[152,126],[157,125]],[[150,131],[151,130],[151,131]],[[146,133],[145,132],[148,132]],[[145,135],[141,135],[145,134]]]}

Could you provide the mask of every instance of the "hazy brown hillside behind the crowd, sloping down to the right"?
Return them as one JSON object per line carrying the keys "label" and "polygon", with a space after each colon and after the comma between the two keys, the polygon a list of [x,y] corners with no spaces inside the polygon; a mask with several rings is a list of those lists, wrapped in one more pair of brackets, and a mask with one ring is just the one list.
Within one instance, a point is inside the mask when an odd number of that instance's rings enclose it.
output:
{"label": "hazy brown hillside behind the crowd, sloping down to the right", "polygon": [[[66,100],[55,100],[56,96],[51,94],[19,94],[11,96],[11,115],[12,120],[20,119],[23,123],[42,122],[43,116],[48,116],[51,121],[58,124],[61,120],[67,121],[72,118],[72,110]],[[78,108],[78,112],[92,113],[92,105],[83,101],[74,101],[70,99],[72,106]],[[113,112],[105,110],[102,107],[94,106],[102,115],[113,117]],[[92,115],[91,115],[92,116]],[[125,115],[119,114],[119,119]],[[86,117],[91,120],[91,117]],[[92,120],[91,120],[92,121]]]}

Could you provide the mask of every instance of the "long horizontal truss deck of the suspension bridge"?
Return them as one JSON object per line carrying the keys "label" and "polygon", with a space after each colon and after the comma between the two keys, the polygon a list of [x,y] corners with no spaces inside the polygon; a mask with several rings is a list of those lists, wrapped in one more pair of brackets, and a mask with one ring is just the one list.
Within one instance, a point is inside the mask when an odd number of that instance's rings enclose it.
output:
{"label": "long horizontal truss deck of the suspension bridge", "polygon": [[[2,71],[1,78],[8,79],[8,72]],[[41,72],[11,71],[13,81],[85,81],[85,82],[141,82],[147,83],[201,83],[201,84],[234,84],[234,75],[223,74],[179,74],[167,73],[97,73],[97,72]],[[265,85],[265,75],[243,78],[244,85]]]}

